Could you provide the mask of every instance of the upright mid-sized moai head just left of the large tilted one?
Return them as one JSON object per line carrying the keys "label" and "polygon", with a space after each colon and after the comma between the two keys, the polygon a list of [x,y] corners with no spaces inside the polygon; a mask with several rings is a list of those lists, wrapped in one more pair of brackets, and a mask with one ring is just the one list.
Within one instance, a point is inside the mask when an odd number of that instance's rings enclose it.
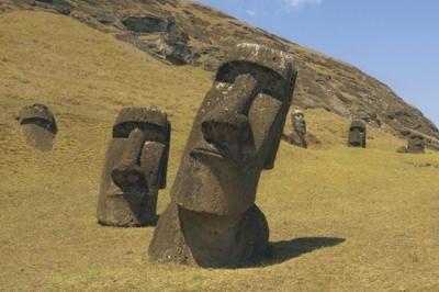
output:
{"label": "upright mid-sized moai head just left of the large tilted one", "polygon": [[144,226],[155,220],[158,190],[166,188],[170,131],[159,110],[121,110],[102,170],[100,224]]}

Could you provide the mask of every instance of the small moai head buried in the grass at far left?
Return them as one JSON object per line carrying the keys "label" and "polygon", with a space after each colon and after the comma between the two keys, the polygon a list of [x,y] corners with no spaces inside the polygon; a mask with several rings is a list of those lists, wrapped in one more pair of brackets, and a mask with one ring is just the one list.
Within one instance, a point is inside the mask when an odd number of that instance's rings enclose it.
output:
{"label": "small moai head buried in the grass at far left", "polygon": [[18,117],[20,132],[27,146],[49,151],[53,148],[53,139],[58,128],[52,111],[42,103],[26,105],[20,111]]}

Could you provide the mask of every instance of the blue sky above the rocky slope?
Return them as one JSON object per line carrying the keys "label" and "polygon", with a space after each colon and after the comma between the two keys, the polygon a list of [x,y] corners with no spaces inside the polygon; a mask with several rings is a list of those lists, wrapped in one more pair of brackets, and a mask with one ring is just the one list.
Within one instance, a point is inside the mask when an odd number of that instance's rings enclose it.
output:
{"label": "blue sky above the rocky slope", "polygon": [[196,0],[353,65],[439,127],[439,0]]}

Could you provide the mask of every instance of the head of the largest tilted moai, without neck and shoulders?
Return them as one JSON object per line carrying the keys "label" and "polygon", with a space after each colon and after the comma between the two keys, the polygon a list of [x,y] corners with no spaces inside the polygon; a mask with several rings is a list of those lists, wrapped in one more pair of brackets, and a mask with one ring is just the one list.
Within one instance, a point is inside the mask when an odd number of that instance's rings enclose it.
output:
{"label": "head of the largest tilted moai, without neck and shoulders", "polygon": [[254,204],[260,171],[273,167],[295,81],[283,53],[243,44],[229,58],[199,109],[171,190],[178,205],[217,215]]}

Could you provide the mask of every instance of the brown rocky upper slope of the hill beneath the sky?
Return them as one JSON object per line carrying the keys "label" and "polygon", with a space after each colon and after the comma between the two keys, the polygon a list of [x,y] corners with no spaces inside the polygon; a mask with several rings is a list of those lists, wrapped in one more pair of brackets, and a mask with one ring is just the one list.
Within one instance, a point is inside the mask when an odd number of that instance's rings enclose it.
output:
{"label": "brown rocky upper slope of the hill beneath the sky", "polygon": [[68,14],[130,42],[177,66],[215,71],[236,44],[257,43],[294,56],[299,77],[293,104],[323,108],[399,137],[420,133],[439,149],[439,131],[431,121],[398,98],[387,86],[358,68],[252,27],[221,11],[185,0],[2,0],[10,9]]}

